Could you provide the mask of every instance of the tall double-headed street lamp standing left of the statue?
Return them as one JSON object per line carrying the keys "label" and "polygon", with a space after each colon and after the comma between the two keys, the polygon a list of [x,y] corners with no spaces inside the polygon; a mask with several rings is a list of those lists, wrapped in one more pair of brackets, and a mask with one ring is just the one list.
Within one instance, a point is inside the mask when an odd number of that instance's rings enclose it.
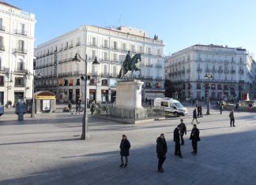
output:
{"label": "tall double-headed street lamp standing left of the statue", "polygon": [[[85,54],[85,59],[83,59],[80,54],[76,53],[73,57],[73,61],[85,61],[85,109],[84,109],[84,116],[82,120],[82,134],[81,139],[89,139],[88,133],[88,117],[87,117],[87,54]],[[100,63],[97,61],[97,57],[92,57],[92,65],[99,65]]]}

